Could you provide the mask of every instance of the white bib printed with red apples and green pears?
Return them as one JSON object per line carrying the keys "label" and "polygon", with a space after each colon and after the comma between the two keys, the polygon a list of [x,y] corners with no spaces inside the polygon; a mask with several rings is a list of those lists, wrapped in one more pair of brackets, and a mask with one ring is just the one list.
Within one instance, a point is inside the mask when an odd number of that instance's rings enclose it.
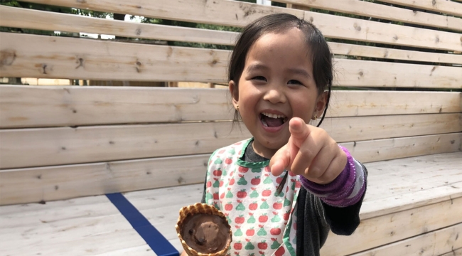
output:
{"label": "white bib printed with red apples and green pears", "polygon": [[300,182],[289,172],[272,176],[268,161],[242,161],[248,139],[218,149],[208,164],[205,203],[222,210],[232,230],[227,255],[296,255],[296,197]]}

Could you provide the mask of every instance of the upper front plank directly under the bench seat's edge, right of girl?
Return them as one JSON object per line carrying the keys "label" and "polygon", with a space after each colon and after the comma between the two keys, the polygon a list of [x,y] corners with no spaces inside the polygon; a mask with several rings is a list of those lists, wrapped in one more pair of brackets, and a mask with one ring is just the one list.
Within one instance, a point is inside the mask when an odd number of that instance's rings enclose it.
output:
{"label": "upper front plank directly under the bench seat's edge, right of girl", "polygon": [[[437,232],[435,230],[461,223],[461,212],[462,198],[455,198],[452,201],[361,220],[353,235],[335,235],[331,232],[328,235],[328,240],[321,248],[321,255],[350,255],[381,245],[397,243],[399,240],[412,238],[416,235],[435,233]],[[415,244],[412,245],[412,247],[414,246]],[[389,255],[409,254],[392,253]]]}

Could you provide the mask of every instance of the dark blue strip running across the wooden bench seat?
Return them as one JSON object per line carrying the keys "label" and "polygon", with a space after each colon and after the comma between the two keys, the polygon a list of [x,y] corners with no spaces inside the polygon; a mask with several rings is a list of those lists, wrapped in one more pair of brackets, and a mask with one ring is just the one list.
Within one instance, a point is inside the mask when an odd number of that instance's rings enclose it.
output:
{"label": "dark blue strip running across the wooden bench seat", "polygon": [[156,230],[149,220],[136,209],[122,193],[106,195],[115,207],[124,215],[136,232],[141,235],[151,249],[159,256],[179,256],[178,250]]}

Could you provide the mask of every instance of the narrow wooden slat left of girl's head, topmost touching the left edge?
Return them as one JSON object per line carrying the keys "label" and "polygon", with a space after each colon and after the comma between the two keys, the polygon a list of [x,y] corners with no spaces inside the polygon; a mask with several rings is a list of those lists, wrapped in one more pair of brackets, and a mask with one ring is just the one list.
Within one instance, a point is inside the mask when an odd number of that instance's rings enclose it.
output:
{"label": "narrow wooden slat left of girl's head, topmost touching the left edge", "polygon": [[60,14],[0,6],[0,26],[65,32],[98,33],[131,38],[214,43],[232,46],[238,33],[179,26],[115,21],[107,18]]}

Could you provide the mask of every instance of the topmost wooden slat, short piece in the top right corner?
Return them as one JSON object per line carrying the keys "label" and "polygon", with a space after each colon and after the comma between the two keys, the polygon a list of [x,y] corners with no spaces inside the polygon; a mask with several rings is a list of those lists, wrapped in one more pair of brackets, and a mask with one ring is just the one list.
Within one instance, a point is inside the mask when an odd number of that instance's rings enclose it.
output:
{"label": "topmost wooden slat, short piece in the top right corner", "polygon": [[402,6],[409,6],[416,9],[436,11],[444,14],[452,14],[453,16],[462,17],[461,5],[446,0],[383,0],[383,2],[390,4],[398,4]]}

